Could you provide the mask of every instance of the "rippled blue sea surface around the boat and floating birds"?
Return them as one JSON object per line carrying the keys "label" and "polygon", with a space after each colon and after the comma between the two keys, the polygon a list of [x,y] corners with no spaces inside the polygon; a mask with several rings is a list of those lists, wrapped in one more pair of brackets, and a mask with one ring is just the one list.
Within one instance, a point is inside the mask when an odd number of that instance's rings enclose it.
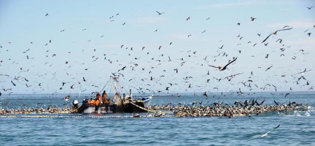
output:
{"label": "rippled blue sea surface around the boat and floating birds", "polygon": [[[308,110],[233,118],[126,117],[133,115],[130,113],[0,117],[0,146],[315,146],[315,92],[290,92],[285,97],[286,93],[246,92],[241,96],[209,93],[208,98],[201,93],[179,93],[180,97],[154,94],[151,105],[191,105],[193,101],[200,101],[202,105],[219,101],[232,105],[235,100],[265,99],[264,105],[274,105],[274,100],[286,104],[295,101],[307,104]],[[78,99],[77,94],[71,94],[70,101],[64,101],[64,96],[66,94],[2,94],[0,108],[63,107]],[[94,97],[91,94],[80,96],[80,102]],[[100,116],[102,118],[97,118]],[[266,137],[257,136],[279,124],[280,127]]]}

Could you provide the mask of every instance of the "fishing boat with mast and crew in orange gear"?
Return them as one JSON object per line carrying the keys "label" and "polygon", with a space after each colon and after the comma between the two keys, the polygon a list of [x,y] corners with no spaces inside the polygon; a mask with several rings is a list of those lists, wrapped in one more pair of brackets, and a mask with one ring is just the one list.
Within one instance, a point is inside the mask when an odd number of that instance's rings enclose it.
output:
{"label": "fishing boat with mast and crew in orange gear", "polygon": [[[153,95],[143,98],[133,99],[131,89],[129,90],[129,95],[123,93],[124,87],[118,82],[118,76],[111,76],[110,80],[106,83],[104,88],[112,83],[114,93],[111,98],[105,98],[98,105],[82,104],[79,107],[77,105],[72,105],[73,113],[141,113],[146,112],[149,107],[150,101]],[[120,87],[120,88],[118,88]],[[102,88],[101,91],[104,89]],[[100,91],[100,92],[101,92]],[[123,93],[123,95],[120,94]],[[79,97],[80,97],[79,92]],[[111,93],[110,93],[111,94]],[[104,102],[106,100],[106,102]],[[104,102],[104,103],[103,103]],[[78,108],[75,108],[78,107]]]}

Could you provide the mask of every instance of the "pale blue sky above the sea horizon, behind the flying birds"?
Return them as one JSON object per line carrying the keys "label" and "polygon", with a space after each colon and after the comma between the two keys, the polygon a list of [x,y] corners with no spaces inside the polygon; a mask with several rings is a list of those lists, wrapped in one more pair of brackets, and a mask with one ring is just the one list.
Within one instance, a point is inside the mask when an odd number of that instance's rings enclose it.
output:
{"label": "pale blue sky above the sea horizon, behind the flying birds", "polygon": [[[12,88],[1,92],[77,93],[79,88],[85,88],[88,93],[101,89],[92,85],[102,87],[111,72],[124,66],[127,67],[120,71],[124,75],[120,80],[125,88],[133,88],[134,92],[143,88],[147,94],[152,90],[275,91],[272,86],[264,88],[266,84],[275,85],[278,91],[288,91],[290,87],[292,91],[305,91],[315,81],[312,76],[315,71],[315,8],[306,8],[311,6],[315,6],[313,0],[0,0],[0,74],[10,76],[0,76],[0,88]],[[156,10],[165,13],[158,15]],[[45,16],[46,13],[49,15]],[[111,16],[114,17],[110,19]],[[206,20],[208,17],[210,19]],[[250,17],[257,19],[249,21]],[[293,29],[272,35],[266,41],[267,46],[260,43],[284,26]],[[240,40],[237,35],[243,38]],[[276,42],[278,38],[283,39],[281,44]],[[121,45],[124,46],[120,48]],[[222,45],[223,49],[218,49]],[[162,46],[160,50],[159,46]],[[280,48],[286,50],[282,52]],[[301,49],[304,52],[299,51]],[[228,57],[222,57],[224,53]],[[53,54],[56,56],[52,57]],[[280,57],[281,54],[285,56]],[[168,61],[168,57],[172,61]],[[225,71],[208,66],[225,65],[232,57],[237,60]],[[312,69],[303,74],[310,85],[306,85],[306,80],[300,80],[297,85],[297,79],[291,75],[305,68]],[[208,70],[210,75],[205,76]],[[231,81],[218,82],[213,78],[223,79],[237,73],[242,74]],[[162,75],[165,77],[160,77]],[[25,77],[29,82],[15,80],[15,76]],[[193,78],[184,80],[187,76]],[[210,83],[206,83],[207,79]],[[253,80],[246,83],[251,83],[252,88],[240,83],[248,80]],[[62,82],[66,83],[64,87]],[[192,88],[188,88],[189,84]],[[71,85],[74,89],[70,89]],[[170,90],[165,90],[166,87]]]}

